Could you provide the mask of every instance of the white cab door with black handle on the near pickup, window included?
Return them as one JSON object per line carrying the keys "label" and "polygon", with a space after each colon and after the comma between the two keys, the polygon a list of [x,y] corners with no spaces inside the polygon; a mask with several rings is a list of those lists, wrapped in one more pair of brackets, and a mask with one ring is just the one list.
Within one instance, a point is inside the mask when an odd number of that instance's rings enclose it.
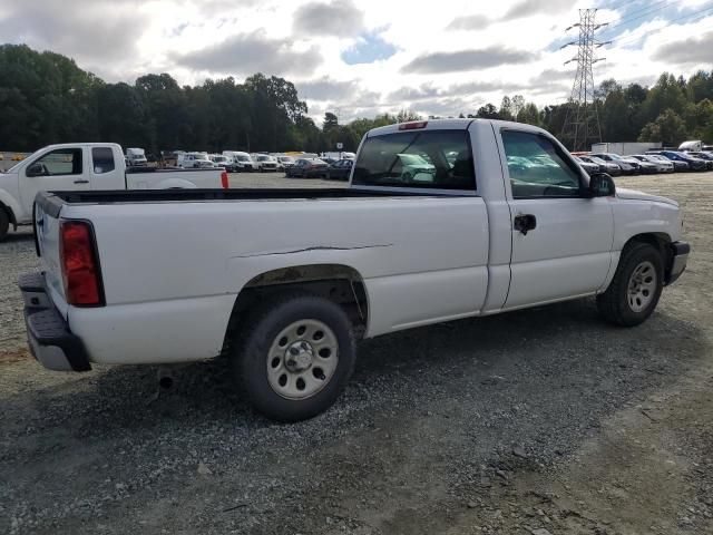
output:
{"label": "white cab door with black handle on the near pickup, window included", "polygon": [[501,130],[512,252],[506,309],[594,293],[612,263],[611,198],[583,194],[587,179],[551,138]]}

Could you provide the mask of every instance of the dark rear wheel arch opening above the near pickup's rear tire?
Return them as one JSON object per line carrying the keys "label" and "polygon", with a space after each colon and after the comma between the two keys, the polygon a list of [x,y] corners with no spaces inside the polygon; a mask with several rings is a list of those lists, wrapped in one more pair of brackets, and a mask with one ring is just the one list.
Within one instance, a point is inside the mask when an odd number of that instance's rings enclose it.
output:
{"label": "dark rear wheel arch opening above the near pickup's rear tire", "polygon": [[231,311],[222,353],[229,353],[235,333],[255,304],[294,290],[333,301],[346,311],[358,337],[365,332],[369,298],[364,279],[358,270],[345,264],[291,265],[261,273],[241,289]]}

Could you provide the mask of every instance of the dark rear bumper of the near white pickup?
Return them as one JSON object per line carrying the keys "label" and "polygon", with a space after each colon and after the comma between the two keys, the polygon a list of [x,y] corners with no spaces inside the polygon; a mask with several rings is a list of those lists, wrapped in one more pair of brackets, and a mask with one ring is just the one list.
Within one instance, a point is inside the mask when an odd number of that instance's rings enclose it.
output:
{"label": "dark rear bumper of the near white pickup", "polygon": [[49,370],[90,370],[84,343],[70,332],[67,321],[52,304],[42,275],[22,275],[18,285],[25,300],[28,344],[35,359]]}

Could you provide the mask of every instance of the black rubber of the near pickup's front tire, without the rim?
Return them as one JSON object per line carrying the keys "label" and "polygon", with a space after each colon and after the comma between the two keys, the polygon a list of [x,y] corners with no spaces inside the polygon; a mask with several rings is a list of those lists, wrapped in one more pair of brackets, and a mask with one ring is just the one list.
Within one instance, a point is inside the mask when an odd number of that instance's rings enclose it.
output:
{"label": "black rubber of the near pickup's front tire, without the rim", "polygon": [[[655,271],[655,289],[642,310],[629,303],[629,283],[635,270],[648,262]],[[606,292],[597,295],[597,309],[605,320],[621,327],[634,327],[654,312],[663,290],[664,263],[661,253],[648,243],[633,242],[624,247],[616,273]]]}

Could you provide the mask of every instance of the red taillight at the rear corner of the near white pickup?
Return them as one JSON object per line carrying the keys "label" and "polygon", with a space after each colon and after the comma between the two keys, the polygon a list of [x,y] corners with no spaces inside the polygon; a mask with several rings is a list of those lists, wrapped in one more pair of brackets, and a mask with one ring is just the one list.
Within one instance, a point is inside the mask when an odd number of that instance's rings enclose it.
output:
{"label": "red taillight at the rear corner of the near white pickup", "polygon": [[104,295],[91,225],[85,221],[62,221],[59,257],[67,303],[101,307]]}

